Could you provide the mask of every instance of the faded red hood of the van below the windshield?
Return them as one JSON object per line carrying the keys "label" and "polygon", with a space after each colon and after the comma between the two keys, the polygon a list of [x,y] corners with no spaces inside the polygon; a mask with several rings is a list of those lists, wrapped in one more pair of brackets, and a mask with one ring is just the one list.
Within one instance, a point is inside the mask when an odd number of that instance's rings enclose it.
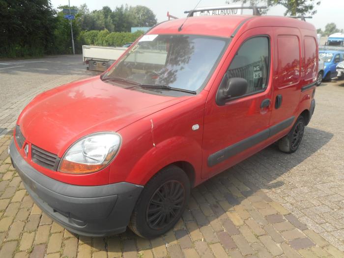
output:
{"label": "faded red hood of the van below the windshield", "polygon": [[61,157],[85,135],[118,131],[187,98],[124,89],[97,76],[36,96],[22,111],[18,125],[30,143]]}

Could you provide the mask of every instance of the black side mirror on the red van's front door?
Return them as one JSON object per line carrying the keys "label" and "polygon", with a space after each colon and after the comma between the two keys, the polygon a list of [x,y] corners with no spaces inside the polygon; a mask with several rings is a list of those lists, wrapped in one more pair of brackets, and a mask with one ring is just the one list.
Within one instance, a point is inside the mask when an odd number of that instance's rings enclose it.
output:
{"label": "black side mirror on the red van's front door", "polygon": [[216,103],[219,106],[223,106],[229,99],[244,95],[247,88],[248,82],[244,78],[234,77],[228,79],[226,75],[222,79],[220,88],[216,94]]}

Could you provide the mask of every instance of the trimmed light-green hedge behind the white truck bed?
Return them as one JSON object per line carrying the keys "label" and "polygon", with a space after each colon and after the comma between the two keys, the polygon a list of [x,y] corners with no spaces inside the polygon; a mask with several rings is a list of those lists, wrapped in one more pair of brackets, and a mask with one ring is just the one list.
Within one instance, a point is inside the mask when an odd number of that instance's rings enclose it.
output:
{"label": "trimmed light-green hedge behind the white truck bed", "polygon": [[109,30],[90,30],[82,31],[78,37],[78,41],[82,45],[96,45],[96,46],[114,46],[121,47],[125,43],[134,42],[144,32],[109,32]]}

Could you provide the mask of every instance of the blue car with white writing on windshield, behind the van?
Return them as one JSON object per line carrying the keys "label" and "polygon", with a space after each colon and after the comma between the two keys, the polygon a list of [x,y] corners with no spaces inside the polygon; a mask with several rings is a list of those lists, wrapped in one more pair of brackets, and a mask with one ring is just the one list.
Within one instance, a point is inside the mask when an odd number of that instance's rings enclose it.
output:
{"label": "blue car with white writing on windshield, behind the van", "polygon": [[324,50],[319,51],[319,58],[324,61],[324,74],[322,79],[331,80],[337,77],[336,66],[344,60],[344,53],[340,51]]}

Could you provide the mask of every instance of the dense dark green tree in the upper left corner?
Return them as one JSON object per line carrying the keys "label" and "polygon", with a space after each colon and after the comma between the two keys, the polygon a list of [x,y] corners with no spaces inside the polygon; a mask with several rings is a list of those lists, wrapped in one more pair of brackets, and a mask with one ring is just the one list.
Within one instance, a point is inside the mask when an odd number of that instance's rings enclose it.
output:
{"label": "dense dark green tree in the upper left corner", "polygon": [[43,55],[54,42],[49,0],[0,0],[0,56]]}

